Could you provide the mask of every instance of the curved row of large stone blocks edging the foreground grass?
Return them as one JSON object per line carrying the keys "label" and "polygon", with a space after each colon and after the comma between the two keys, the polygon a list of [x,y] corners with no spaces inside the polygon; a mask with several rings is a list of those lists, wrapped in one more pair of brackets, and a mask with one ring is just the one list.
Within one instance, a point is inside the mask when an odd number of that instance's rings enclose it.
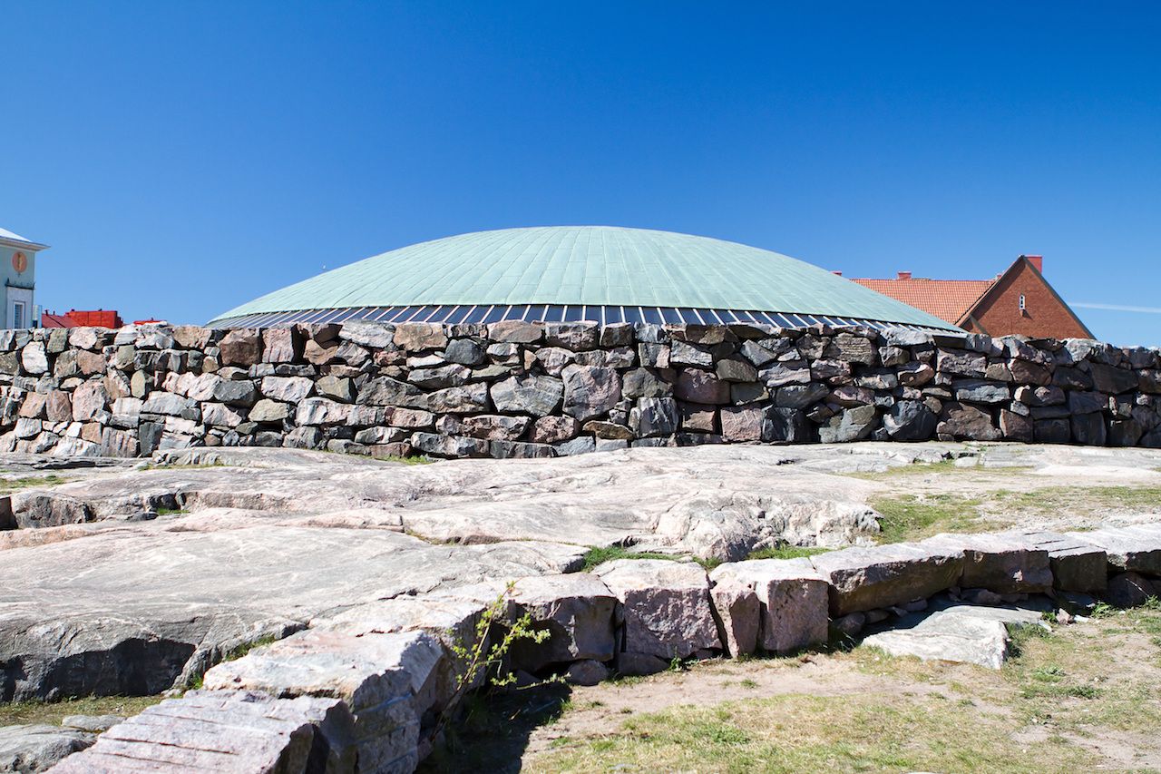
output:
{"label": "curved row of large stone blocks edging the foreground grass", "polygon": [[[365,602],[215,666],[203,690],[113,726],[55,771],[410,772],[460,690],[463,662],[453,648],[486,652],[488,640],[474,638],[489,609],[498,615],[497,633],[525,615],[549,632],[540,644],[525,643],[513,668],[582,683],[613,669],[656,672],[675,658],[785,653],[822,643],[828,624],[857,636],[872,619],[880,623],[867,645],[998,668],[1012,629],[1048,626],[1041,611],[1072,602],[1040,595],[988,605],[962,597],[990,594],[998,603],[1014,588],[1050,592],[1061,586],[1053,567],[1093,585],[1090,554],[1113,573],[1110,594],[1161,582],[1142,564],[1161,550],[1161,528],[1109,528],[1098,539],[1135,550],[1105,556],[1080,537],[1048,532],[940,535],[810,559],[724,564],[709,576],[692,561],[619,559],[591,574],[445,585],[418,597]],[[1084,557],[1082,568],[1053,565],[1059,552]],[[980,586],[961,589],[964,582]],[[223,724],[231,728],[225,738]]]}

